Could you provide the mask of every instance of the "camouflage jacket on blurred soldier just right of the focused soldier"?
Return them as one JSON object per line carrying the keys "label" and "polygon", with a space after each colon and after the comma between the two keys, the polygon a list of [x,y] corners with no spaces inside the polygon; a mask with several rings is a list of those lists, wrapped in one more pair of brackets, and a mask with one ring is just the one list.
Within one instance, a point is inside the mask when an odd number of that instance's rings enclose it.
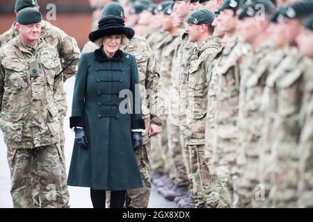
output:
{"label": "camouflage jacket on blurred soldier just right of the focused soldier", "polygon": [[[252,49],[238,36],[225,45],[214,72],[220,76],[216,86],[214,114],[214,141],[212,173],[219,165],[232,166],[236,162],[238,140],[237,117],[239,109],[239,84],[241,60],[250,56]],[[229,169],[232,171],[232,169]],[[228,172],[230,173],[230,172]]]}

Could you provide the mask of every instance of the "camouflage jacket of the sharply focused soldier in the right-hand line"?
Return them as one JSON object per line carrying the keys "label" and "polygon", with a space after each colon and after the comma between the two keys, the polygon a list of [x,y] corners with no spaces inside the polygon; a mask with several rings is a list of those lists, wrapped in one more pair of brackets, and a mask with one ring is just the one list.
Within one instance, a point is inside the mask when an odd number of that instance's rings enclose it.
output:
{"label": "camouflage jacket of the sharply focused soldier in the right-hand line", "polygon": [[186,144],[204,144],[205,116],[207,114],[207,94],[211,79],[211,62],[222,49],[218,37],[210,37],[196,46],[191,57],[188,71],[187,110],[186,110]]}

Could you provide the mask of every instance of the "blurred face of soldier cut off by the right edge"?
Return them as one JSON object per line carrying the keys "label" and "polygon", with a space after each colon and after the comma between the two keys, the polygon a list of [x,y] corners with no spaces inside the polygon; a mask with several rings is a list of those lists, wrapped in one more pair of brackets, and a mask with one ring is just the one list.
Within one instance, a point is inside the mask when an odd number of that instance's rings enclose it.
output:
{"label": "blurred face of soldier cut off by the right edge", "polygon": [[313,31],[303,28],[296,37],[296,44],[301,55],[313,59]]}

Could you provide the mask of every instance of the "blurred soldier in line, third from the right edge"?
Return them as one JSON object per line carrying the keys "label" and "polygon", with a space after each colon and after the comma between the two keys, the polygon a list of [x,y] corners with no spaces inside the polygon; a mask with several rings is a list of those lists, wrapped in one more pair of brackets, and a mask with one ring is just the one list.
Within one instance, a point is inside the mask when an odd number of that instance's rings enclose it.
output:
{"label": "blurred soldier in line, third from the right edge", "polygon": [[[271,24],[268,26],[268,33],[271,35],[271,40],[275,45],[275,51],[272,51],[264,58],[266,61],[270,62],[268,66],[268,77],[266,78],[266,85],[264,87],[259,110],[263,113],[264,123],[259,138],[259,194],[261,194],[262,199],[259,200],[258,207],[268,207],[268,192],[271,186],[271,164],[273,162],[271,154],[271,146],[273,137],[275,137],[275,131],[273,123],[275,117],[277,116],[277,94],[275,89],[275,80],[284,74],[283,69],[277,69],[279,66],[287,67],[290,64],[289,58],[294,58],[296,52],[295,50],[287,47],[287,41],[284,39],[282,33],[283,26],[278,22],[277,18],[280,15],[280,8],[273,12],[271,15]],[[287,55],[287,52],[289,56]],[[291,56],[292,55],[292,56]],[[288,59],[286,60],[286,56]],[[284,65],[283,65],[284,64]]]}

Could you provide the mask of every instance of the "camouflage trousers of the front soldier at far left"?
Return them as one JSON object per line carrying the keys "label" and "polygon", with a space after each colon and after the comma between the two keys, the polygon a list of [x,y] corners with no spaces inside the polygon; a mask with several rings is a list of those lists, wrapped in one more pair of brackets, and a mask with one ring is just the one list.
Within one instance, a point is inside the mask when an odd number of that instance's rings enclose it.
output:
{"label": "camouflage trousers of the front soldier at far left", "polygon": [[61,148],[8,147],[11,196],[15,208],[63,207]]}

